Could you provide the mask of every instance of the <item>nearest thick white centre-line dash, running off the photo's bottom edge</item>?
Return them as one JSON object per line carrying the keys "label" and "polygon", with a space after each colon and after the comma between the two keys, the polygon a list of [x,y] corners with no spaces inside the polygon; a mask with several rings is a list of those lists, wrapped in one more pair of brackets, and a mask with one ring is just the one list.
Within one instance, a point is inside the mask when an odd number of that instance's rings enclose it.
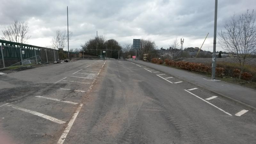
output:
{"label": "nearest thick white centre-line dash, running off the photo's bottom edge", "polygon": [[72,125],[74,124],[75,120],[76,120],[76,116],[78,115],[79,111],[81,110],[83,104],[81,103],[79,105],[79,107],[76,109],[76,112],[74,113],[74,115],[72,116],[72,118],[70,119],[70,121],[68,122],[68,126],[66,127],[66,129],[64,130],[64,132],[61,134],[60,139],[58,141],[58,144],[63,144],[63,142],[65,141],[68,132],[70,131]]}

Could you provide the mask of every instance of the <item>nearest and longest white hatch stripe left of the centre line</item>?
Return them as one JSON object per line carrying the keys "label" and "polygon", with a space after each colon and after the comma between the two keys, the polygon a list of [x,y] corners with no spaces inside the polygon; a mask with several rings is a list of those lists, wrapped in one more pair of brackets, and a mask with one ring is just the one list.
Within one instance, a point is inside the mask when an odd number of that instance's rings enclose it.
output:
{"label": "nearest and longest white hatch stripe left of the centre line", "polygon": [[26,109],[26,108],[20,108],[20,107],[16,107],[16,106],[12,106],[12,108],[18,109],[18,110],[21,110],[21,111],[24,111],[24,112],[27,112],[27,113],[30,113],[30,114],[33,114],[33,115],[36,115],[36,116],[43,117],[45,119],[48,119],[48,120],[53,121],[53,122],[58,123],[58,124],[66,123],[66,122],[64,122],[62,120],[59,120],[57,118],[54,118],[52,116],[47,116],[47,115],[44,115],[42,113],[39,113],[39,112],[36,112],[36,111],[32,111],[32,110],[29,110],[29,109]]}

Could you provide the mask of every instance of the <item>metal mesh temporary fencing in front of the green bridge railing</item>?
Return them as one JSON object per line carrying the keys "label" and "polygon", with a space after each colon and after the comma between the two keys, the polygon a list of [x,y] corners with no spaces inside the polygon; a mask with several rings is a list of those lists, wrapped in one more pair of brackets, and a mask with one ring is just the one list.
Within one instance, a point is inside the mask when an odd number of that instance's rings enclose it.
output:
{"label": "metal mesh temporary fencing in front of the green bridge railing", "polygon": [[1,46],[0,69],[53,62],[59,59],[58,50]]}

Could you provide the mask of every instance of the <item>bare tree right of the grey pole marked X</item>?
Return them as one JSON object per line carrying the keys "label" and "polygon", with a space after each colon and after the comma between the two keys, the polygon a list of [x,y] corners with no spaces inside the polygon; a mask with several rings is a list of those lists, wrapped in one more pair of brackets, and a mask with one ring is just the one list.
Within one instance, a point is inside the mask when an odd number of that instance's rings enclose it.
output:
{"label": "bare tree right of the grey pole marked X", "polygon": [[234,14],[224,26],[226,31],[218,32],[222,48],[235,54],[239,61],[241,70],[239,79],[244,72],[244,64],[252,60],[256,52],[256,25],[254,25],[253,12],[254,10],[251,13],[247,10],[238,20],[235,19]]}

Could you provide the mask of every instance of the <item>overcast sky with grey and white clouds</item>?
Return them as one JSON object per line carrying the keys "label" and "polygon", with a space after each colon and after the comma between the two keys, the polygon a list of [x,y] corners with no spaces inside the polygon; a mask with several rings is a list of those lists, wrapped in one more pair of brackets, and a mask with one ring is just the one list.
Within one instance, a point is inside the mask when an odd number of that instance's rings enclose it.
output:
{"label": "overcast sky with grey and white clouds", "polygon": [[[0,29],[14,20],[28,21],[28,44],[51,45],[57,29],[73,32],[69,48],[81,48],[90,38],[103,35],[121,45],[132,39],[150,39],[158,49],[169,48],[177,37],[184,48],[213,49],[215,0],[1,0]],[[255,0],[219,0],[217,30],[231,15],[255,9]],[[2,32],[0,33],[2,35]],[[218,36],[218,35],[217,35]],[[217,44],[216,51],[221,47]]]}

